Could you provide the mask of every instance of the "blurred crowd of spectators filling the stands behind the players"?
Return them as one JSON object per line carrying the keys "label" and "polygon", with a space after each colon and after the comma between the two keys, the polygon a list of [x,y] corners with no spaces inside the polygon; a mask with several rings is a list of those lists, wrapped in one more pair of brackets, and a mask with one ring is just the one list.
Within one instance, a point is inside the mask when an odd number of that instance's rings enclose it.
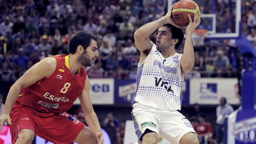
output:
{"label": "blurred crowd of spectators filling the stands behind the players", "polygon": [[[201,13],[217,14],[217,32],[234,31],[235,2],[195,2]],[[256,2],[242,0],[242,5],[243,33],[256,46]],[[0,0],[1,80],[15,81],[41,59],[68,54],[69,38],[78,30],[98,37],[100,56],[86,67],[89,77],[135,79],[139,52],[133,33],[166,11],[167,0]],[[150,39],[155,42],[156,33]],[[195,47],[195,56],[195,67],[185,78],[236,77],[243,63],[237,64],[236,51],[225,43]]]}

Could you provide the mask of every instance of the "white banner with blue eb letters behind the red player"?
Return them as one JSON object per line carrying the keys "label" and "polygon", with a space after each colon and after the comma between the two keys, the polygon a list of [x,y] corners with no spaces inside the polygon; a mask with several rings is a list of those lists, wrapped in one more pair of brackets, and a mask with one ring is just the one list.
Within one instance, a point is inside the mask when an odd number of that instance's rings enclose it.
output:
{"label": "white banner with blue eb letters behind the red player", "polygon": [[[114,79],[90,78],[90,98],[92,104],[114,104]],[[74,104],[80,104],[78,98]]]}

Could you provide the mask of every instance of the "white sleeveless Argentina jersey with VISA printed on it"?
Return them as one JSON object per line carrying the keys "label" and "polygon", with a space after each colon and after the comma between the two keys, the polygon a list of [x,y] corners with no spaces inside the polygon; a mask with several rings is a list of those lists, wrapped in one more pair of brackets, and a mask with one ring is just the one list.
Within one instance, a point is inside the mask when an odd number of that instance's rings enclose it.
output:
{"label": "white sleeveless Argentina jersey with VISA printed on it", "polygon": [[132,106],[153,110],[181,110],[181,60],[182,54],[164,58],[153,45],[144,62],[139,65],[136,90]]}

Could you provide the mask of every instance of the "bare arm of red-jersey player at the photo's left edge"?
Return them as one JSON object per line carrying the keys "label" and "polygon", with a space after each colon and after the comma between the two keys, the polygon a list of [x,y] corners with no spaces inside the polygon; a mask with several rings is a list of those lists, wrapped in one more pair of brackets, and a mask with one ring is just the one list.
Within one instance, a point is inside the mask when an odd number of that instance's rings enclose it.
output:
{"label": "bare arm of red-jersey player at the photo's left edge", "polygon": [[11,125],[10,112],[18,98],[21,90],[33,83],[41,80],[44,77],[49,77],[56,67],[55,58],[45,58],[44,60],[34,64],[29,70],[25,72],[12,86],[5,101],[3,115],[0,117],[0,128],[2,131],[3,123],[7,122]]}

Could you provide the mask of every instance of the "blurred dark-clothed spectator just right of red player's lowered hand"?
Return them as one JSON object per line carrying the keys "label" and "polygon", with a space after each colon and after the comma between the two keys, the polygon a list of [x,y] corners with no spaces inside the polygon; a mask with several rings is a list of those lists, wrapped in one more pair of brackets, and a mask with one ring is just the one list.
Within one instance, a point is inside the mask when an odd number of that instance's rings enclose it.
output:
{"label": "blurred dark-clothed spectator just right of red player's lowered hand", "polygon": [[115,144],[121,144],[120,139],[120,122],[114,117],[112,112],[108,112],[107,117],[104,120],[103,126],[111,126],[115,128]]}

